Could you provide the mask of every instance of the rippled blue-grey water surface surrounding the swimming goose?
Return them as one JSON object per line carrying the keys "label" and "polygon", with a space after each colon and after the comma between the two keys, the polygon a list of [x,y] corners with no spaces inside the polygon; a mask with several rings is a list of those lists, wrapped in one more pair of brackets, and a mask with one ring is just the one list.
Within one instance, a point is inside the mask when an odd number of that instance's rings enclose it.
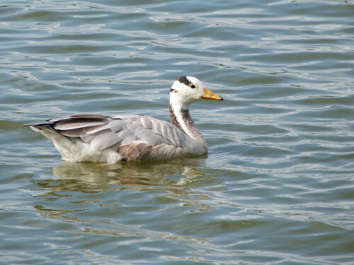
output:
{"label": "rippled blue-grey water surface surrounding the swimming goose", "polygon": [[[1,1],[0,263],[353,264],[353,1]],[[28,128],[168,119],[198,158],[63,163]]]}

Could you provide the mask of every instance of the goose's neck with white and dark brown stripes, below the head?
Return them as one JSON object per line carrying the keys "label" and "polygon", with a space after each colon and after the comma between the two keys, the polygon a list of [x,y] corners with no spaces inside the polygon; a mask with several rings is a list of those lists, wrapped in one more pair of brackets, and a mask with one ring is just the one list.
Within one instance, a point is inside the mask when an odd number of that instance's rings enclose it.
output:
{"label": "goose's neck with white and dark brown stripes, below the head", "polygon": [[203,145],[206,146],[206,142],[202,134],[200,134],[200,131],[197,126],[195,126],[193,119],[190,117],[188,107],[181,107],[181,105],[173,104],[173,102],[170,101],[169,111],[171,123],[174,126],[181,129],[185,135],[202,142]]}

